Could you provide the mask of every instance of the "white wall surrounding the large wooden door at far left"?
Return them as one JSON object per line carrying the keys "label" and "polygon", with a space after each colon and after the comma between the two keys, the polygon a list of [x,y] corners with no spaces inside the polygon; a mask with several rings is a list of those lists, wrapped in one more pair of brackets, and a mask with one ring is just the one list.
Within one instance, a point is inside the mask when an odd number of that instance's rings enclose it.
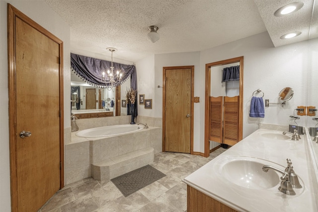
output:
{"label": "white wall surrounding the large wooden door at far left", "polygon": [[[9,129],[8,129],[8,67],[7,67],[7,3],[29,16],[63,41],[64,48],[64,102],[70,102],[70,27],[44,1],[0,1],[0,211],[11,211]],[[64,105],[64,127],[71,126],[70,104]],[[71,132],[71,130],[70,130]]]}

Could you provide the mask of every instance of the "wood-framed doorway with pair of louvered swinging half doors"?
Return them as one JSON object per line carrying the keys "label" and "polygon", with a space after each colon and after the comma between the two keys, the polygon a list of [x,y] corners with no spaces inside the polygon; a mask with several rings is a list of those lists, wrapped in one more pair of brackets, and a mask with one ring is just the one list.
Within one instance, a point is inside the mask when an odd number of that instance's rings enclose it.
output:
{"label": "wood-framed doorway with pair of louvered swinging half doors", "polygon": [[[228,68],[238,69],[239,78],[222,81],[223,70]],[[237,141],[242,140],[243,57],[206,64],[205,78],[204,154],[207,157],[210,149],[220,143],[221,145],[234,145]],[[236,123],[230,123],[231,121],[228,122],[226,119],[236,119]],[[229,124],[227,125],[227,123]],[[213,137],[212,128],[216,134],[219,134],[219,137]]]}

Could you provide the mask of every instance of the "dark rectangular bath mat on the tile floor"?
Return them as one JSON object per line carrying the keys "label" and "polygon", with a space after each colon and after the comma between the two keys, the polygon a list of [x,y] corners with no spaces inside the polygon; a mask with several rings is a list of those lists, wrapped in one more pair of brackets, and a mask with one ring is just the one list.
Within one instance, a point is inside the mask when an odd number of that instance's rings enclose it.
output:
{"label": "dark rectangular bath mat on the tile floor", "polygon": [[111,182],[123,193],[125,197],[135,193],[136,191],[156,182],[165,174],[155,169],[151,165],[147,165],[134,171],[123,174],[119,177],[111,179]]}

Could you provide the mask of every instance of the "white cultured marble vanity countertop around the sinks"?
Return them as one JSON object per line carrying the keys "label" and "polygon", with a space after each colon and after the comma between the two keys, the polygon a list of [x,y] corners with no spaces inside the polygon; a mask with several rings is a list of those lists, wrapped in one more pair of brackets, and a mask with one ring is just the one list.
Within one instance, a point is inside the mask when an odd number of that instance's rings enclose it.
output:
{"label": "white cultured marble vanity countertop around the sinks", "polygon": [[[265,129],[255,131],[184,178],[183,182],[240,212],[318,212],[315,197],[318,179],[313,174],[317,173],[313,170],[316,162],[309,153],[310,145],[306,135],[302,135],[300,141],[276,140],[261,136],[264,132],[279,131]],[[286,159],[290,158],[303,188],[294,189],[296,195],[286,195],[278,190],[280,180],[271,189],[256,190],[238,186],[225,179],[220,168],[221,161],[229,160],[233,156],[248,156],[271,161],[280,169],[287,166]],[[279,173],[278,175],[281,176]]]}

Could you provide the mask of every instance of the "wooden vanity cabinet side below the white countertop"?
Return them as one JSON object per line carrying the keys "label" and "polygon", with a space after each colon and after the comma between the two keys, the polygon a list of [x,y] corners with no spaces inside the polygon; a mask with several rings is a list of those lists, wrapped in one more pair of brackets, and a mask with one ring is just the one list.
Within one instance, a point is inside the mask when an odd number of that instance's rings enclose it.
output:
{"label": "wooden vanity cabinet side below the white countertop", "polygon": [[187,186],[187,212],[237,212],[202,192]]}

